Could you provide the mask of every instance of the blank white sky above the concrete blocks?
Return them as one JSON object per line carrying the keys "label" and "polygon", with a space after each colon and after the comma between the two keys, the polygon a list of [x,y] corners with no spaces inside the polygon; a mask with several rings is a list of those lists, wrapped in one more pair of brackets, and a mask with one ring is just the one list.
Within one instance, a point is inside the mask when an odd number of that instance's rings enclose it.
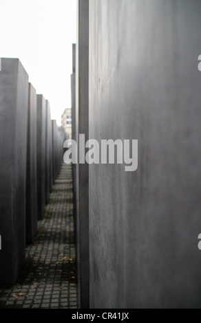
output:
{"label": "blank white sky above the concrete blocks", "polygon": [[19,58],[52,119],[71,107],[76,0],[0,0],[0,57]]}

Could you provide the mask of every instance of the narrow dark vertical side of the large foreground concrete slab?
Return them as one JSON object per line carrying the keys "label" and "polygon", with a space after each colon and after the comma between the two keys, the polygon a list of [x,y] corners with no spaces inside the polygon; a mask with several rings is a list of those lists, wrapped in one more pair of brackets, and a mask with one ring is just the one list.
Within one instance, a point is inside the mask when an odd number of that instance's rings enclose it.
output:
{"label": "narrow dark vertical side of the large foreground concrete slab", "polygon": [[[76,51],[76,138],[89,138],[89,0],[78,0]],[[82,164],[83,163],[83,164]],[[78,306],[89,308],[89,165],[76,166]]]}

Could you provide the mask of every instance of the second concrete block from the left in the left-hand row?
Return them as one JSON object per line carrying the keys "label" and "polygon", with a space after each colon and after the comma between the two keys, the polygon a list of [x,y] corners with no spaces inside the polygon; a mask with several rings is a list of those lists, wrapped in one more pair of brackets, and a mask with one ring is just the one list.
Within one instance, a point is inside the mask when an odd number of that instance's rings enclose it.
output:
{"label": "second concrete block from the left in the left-hand row", "polygon": [[36,90],[29,85],[28,141],[26,173],[26,242],[33,243],[37,231],[37,142],[36,142]]}

